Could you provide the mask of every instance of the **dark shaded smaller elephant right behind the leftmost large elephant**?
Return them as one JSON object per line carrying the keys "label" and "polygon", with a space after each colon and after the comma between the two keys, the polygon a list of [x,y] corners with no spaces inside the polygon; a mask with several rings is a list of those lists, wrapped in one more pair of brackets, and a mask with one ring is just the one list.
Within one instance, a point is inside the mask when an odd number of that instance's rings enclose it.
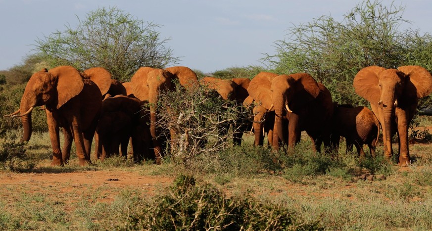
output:
{"label": "dark shaded smaller elephant right behind the leftmost large elephant", "polygon": [[116,95],[102,101],[96,128],[96,159],[103,160],[113,154],[127,156],[129,140],[134,161],[155,158],[148,126],[148,108],[143,107],[144,103],[133,96]]}

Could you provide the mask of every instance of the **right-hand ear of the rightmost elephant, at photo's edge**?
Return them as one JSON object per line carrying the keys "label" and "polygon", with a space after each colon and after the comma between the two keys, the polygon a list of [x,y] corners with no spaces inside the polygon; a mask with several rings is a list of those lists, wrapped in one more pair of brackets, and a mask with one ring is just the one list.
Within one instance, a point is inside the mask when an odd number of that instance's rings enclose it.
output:
{"label": "right-hand ear of the rightmost elephant, at photo's edge", "polygon": [[[409,77],[406,80],[414,85],[418,98],[428,96],[432,92],[432,76],[427,69],[421,66],[402,66],[397,69]],[[408,85],[409,83],[405,83],[405,86]]]}

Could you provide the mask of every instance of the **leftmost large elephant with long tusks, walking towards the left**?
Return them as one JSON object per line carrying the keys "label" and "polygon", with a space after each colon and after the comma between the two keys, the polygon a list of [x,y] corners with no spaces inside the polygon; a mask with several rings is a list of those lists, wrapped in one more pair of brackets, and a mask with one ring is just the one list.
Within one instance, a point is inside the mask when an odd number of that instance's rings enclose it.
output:
{"label": "leftmost large elephant with long tusks, walking towards the left", "polygon": [[[79,164],[90,164],[90,150],[102,94],[108,91],[109,80],[107,71],[99,67],[84,73],[72,66],[42,69],[30,77],[19,110],[7,116],[21,117],[24,129],[22,140],[28,141],[32,135],[31,112],[35,106],[45,105],[53,152],[51,165],[63,165],[68,161],[72,139],[75,141]],[[60,127],[64,135],[62,152]]]}

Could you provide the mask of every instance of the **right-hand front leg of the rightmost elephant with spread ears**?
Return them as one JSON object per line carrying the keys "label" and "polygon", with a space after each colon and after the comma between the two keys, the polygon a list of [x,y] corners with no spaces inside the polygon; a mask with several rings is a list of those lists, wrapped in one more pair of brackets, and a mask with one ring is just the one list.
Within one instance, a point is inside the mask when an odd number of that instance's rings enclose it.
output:
{"label": "right-hand front leg of the rightmost elephant with spread ears", "polygon": [[397,133],[399,138],[399,166],[404,167],[410,163],[410,153],[408,147],[408,124],[406,112],[396,109]]}

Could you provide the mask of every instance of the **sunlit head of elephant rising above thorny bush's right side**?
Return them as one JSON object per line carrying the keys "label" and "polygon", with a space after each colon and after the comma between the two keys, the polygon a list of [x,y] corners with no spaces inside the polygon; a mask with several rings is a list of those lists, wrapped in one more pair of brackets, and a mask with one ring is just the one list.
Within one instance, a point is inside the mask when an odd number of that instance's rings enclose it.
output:
{"label": "sunlit head of elephant rising above thorny bush's right side", "polygon": [[207,76],[200,79],[199,83],[208,89],[215,90],[225,100],[236,99],[236,89],[238,85],[231,80]]}

